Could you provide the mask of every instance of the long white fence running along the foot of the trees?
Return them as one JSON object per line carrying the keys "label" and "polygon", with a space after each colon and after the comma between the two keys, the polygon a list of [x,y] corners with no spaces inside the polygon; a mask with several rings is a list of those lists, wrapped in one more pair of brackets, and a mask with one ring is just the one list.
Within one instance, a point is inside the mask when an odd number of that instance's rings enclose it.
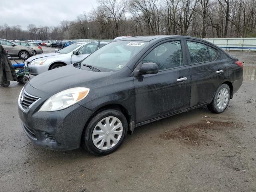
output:
{"label": "long white fence running along the foot of the trees", "polygon": [[[256,38],[206,38],[209,41],[224,50],[254,50],[246,48],[256,48]],[[87,41],[104,41],[112,42],[112,39],[69,39],[74,42],[87,42]]]}

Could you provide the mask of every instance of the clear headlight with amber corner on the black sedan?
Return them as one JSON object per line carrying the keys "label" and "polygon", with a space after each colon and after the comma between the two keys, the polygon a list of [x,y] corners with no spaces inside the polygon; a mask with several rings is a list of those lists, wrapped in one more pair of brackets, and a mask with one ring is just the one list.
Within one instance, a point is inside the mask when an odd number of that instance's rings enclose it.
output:
{"label": "clear headlight with amber corner on the black sedan", "polygon": [[68,108],[84,99],[89,91],[90,89],[85,87],[76,87],[61,91],[46,100],[39,111],[58,111]]}

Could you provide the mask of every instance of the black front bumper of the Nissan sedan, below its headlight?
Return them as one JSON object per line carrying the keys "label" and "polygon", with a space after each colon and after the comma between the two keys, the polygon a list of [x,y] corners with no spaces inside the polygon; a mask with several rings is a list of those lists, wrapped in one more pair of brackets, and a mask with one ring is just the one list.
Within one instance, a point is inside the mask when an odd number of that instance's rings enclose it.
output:
{"label": "black front bumper of the Nissan sedan, below its headlight", "polygon": [[[31,86],[30,90],[36,91]],[[18,105],[22,128],[28,138],[34,144],[51,150],[79,148],[84,126],[92,112],[79,104],[60,111],[38,112],[46,99],[40,98],[28,110]]]}

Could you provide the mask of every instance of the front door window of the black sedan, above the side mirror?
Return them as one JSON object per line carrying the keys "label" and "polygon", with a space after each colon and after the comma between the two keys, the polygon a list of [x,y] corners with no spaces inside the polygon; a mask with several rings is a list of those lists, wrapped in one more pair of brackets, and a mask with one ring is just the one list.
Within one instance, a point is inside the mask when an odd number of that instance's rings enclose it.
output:
{"label": "front door window of the black sedan, above the side mirror", "polygon": [[183,65],[180,41],[171,41],[154,48],[142,63],[156,63],[158,70],[171,69]]}

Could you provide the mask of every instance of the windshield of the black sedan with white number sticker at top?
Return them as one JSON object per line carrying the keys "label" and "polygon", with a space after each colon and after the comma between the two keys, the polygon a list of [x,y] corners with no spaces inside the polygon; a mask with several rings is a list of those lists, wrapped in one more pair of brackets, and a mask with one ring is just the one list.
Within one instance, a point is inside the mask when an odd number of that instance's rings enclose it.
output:
{"label": "windshield of the black sedan with white number sticker at top", "polygon": [[130,59],[140,52],[149,42],[116,41],[105,45],[81,62],[83,65],[95,66],[101,71],[117,71],[126,66]]}

